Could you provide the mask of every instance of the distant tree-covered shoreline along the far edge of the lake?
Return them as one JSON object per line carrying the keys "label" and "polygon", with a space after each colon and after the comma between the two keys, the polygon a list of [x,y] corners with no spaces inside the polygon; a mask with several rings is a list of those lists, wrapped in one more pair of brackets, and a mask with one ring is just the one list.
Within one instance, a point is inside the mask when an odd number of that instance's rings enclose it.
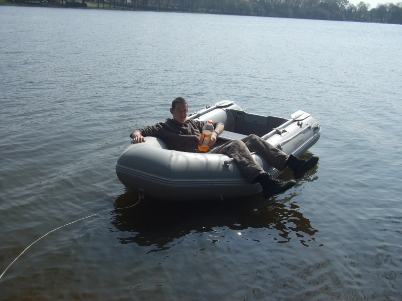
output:
{"label": "distant tree-covered shoreline along the far edge of the lake", "polygon": [[[168,0],[165,2],[160,0],[149,0],[148,5],[142,5],[141,0],[99,0],[98,2],[87,1],[65,1],[65,0],[0,0],[3,6],[31,6],[31,7],[47,7],[47,8],[79,8],[79,9],[99,9],[99,10],[122,10],[122,11],[150,11],[150,12],[181,12],[181,13],[198,13],[198,14],[214,14],[214,15],[236,15],[236,16],[257,16],[271,18],[288,18],[288,19],[308,19],[323,21],[349,21],[349,22],[367,22],[382,24],[402,24],[402,3],[377,5],[376,8],[369,10],[369,5],[360,2],[357,6],[348,3],[346,6],[337,7],[334,0],[333,5],[322,4],[315,7],[290,7],[281,4],[279,1],[264,2],[248,2],[246,0],[232,0],[226,5],[219,7],[211,5],[208,1],[203,2],[209,8],[198,8],[198,2],[192,2],[192,7],[184,5],[183,2],[176,4]],[[171,0],[170,0],[171,1]],[[211,0],[213,1],[213,0]],[[271,0],[273,1],[273,0]],[[162,5],[162,3],[164,5]],[[190,3],[190,2],[189,2]],[[212,7],[212,8],[211,8]]]}

